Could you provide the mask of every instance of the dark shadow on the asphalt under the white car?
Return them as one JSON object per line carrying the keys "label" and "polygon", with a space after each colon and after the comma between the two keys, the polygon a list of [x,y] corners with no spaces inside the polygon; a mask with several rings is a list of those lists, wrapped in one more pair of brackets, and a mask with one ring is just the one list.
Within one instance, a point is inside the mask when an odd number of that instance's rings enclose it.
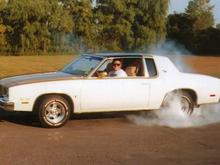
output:
{"label": "dark shadow on the asphalt under the white car", "polygon": [[[70,120],[125,118],[127,115],[139,113],[140,112],[105,112],[73,114]],[[31,112],[8,112],[0,109],[0,122],[4,121],[25,126],[42,127],[37,119],[37,115],[34,115]]]}

